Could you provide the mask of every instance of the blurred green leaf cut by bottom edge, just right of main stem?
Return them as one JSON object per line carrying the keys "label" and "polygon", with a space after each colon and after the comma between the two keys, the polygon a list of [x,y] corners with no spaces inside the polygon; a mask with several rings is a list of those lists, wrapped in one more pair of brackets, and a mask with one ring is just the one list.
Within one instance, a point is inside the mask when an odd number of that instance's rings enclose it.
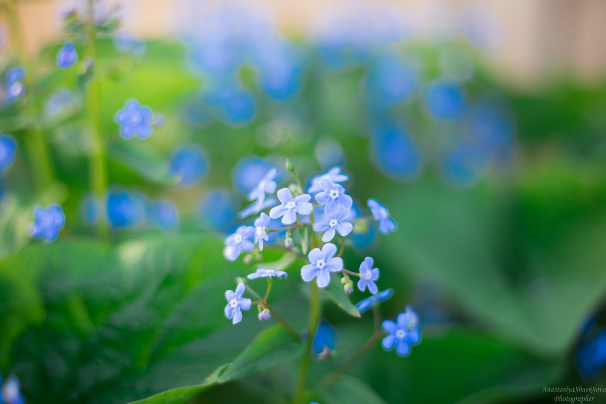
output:
{"label": "blurred green leaf cut by bottom edge, just right of main stem", "polygon": [[342,374],[319,392],[325,402],[331,404],[387,404],[367,383],[347,374]]}

